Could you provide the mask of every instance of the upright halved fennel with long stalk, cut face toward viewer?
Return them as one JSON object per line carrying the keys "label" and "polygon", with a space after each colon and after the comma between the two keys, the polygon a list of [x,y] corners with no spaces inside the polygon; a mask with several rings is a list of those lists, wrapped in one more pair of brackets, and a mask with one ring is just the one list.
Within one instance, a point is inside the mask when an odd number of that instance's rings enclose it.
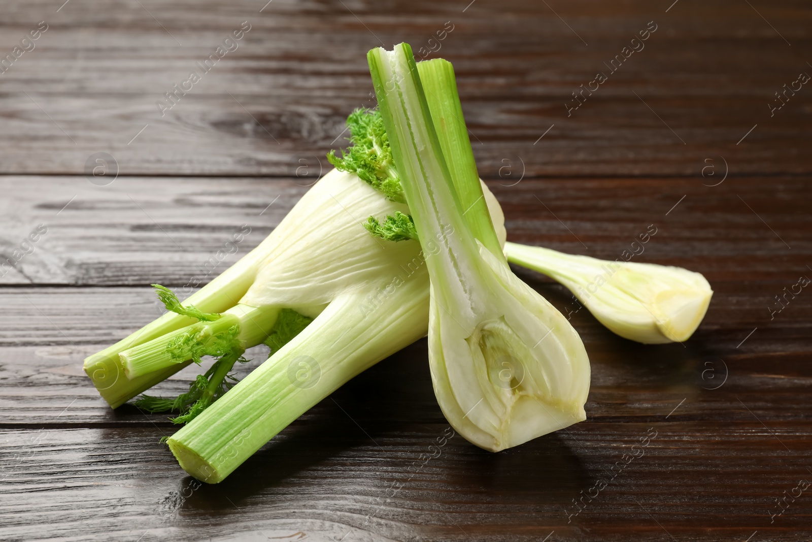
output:
{"label": "upright halved fennel with long stalk, cut face toward viewer", "polygon": [[[460,194],[471,198],[479,180],[452,179],[447,164],[461,160],[443,156],[411,48],[374,49],[368,59],[395,167],[427,253],[429,359],[443,414],[466,439],[492,451],[585,419],[590,364],[581,338],[512,274],[499,249],[474,233],[493,228],[490,217],[464,216],[470,209]],[[464,131],[460,116],[451,121]]]}

